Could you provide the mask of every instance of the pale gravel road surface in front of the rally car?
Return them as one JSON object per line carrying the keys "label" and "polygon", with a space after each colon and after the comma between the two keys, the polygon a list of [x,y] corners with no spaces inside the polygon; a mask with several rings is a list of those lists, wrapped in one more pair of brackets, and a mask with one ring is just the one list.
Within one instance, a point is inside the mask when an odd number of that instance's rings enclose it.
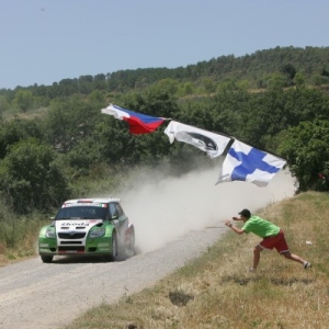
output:
{"label": "pale gravel road surface in front of the rally car", "polygon": [[39,258],[0,269],[0,328],[61,328],[102,302],[139,292],[205,252],[226,231],[223,223],[188,235],[155,251],[102,262]]}

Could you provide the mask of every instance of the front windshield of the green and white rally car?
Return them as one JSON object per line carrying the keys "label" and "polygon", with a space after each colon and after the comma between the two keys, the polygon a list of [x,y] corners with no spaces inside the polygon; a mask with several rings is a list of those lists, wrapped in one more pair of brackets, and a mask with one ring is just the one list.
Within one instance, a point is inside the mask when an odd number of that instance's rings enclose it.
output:
{"label": "front windshield of the green and white rally car", "polygon": [[98,206],[71,206],[60,208],[55,219],[106,219],[106,208]]}

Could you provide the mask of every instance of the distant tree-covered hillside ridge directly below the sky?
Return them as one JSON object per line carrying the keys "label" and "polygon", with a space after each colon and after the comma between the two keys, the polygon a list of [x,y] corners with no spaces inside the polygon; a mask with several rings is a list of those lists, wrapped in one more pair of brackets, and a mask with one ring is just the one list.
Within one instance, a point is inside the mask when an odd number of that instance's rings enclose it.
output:
{"label": "distant tree-covered hillside ridge directly below the sky", "polygon": [[[285,84],[294,84],[297,73],[308,84],[319,86],[329,81],[329,47],[275,47],[257,50],[253,54],[235,57],[219,56],[209,60],[191,64],[186,67],[139,68],[136,70],[120,70],[97,76],[80,76],[54,81],[52,86],[18,87],[15,90],[0,90],[0,95],[12,98],[19,90],[30,90],[34,95],[68,97],[73,93],[89,94],[94,90],[106,92],[140,91],[161,80],[174,80],[178,83],[190,82],[192,86],[209,82],[217,86],[227,81],[247,80],[251,88],[266,88],[269,80],[281,77]],[[274,76],[273,76],[274,75]],[[211,83],[211,84],[212,84]],[[186,89],[189,89],[189,84]],[[0,103],[1,104],[1,103]]]}

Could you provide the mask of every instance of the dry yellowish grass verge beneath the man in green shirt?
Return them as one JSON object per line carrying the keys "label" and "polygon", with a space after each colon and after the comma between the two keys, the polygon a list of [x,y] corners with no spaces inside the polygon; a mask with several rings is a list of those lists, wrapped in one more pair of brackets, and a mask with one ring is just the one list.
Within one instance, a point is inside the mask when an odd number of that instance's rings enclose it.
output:
{"label": "dry yellowish grass verge beneath the man in green shirt", "polygon": [[304,270],[266,251],[259,271],[248,273],[259,238],[229,231],[203,257],[155,286],[116,304],[104,300],[66,329],[328,328],[329,195],[299,194],[259,215],[280,225],[291,251],[313,268]]}

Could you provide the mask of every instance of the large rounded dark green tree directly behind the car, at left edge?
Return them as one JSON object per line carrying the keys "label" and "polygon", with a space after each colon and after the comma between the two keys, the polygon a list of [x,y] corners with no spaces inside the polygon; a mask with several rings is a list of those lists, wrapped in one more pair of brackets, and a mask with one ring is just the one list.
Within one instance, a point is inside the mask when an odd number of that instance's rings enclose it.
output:
{"label": "large rounded dark green tree directly behind the car, at left edge", "polygon": [[0,162],[0,191],[15,213],[49,211],[69,197],[58,156],[34,138],[14,144]]}

